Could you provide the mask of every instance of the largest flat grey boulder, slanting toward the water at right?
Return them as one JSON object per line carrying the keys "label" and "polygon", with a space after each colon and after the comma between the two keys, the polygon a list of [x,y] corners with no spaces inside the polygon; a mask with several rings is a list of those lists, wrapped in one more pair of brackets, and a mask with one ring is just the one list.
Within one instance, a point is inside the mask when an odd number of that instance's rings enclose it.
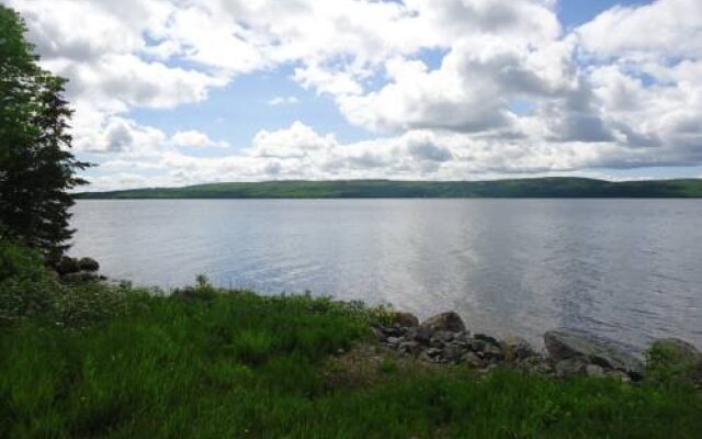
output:
{"label": "largest flat grey boulder, slanting toward the water at right", "polygon": [[550,330],[544,335],[544,341],[548,354],[556,362],[579,358],[604,369],[623,371],[636,380],[643,376],[643,364],[636,357],[586,333],[573,329]]}

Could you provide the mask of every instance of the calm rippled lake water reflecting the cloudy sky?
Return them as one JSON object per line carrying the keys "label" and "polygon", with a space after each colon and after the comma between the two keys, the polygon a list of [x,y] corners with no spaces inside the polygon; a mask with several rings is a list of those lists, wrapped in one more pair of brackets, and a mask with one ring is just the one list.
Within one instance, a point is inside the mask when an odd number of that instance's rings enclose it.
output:
{"label": "calm rippled lake water reflecting the cloudy sky", "polygon": [[702,346],[695,200],[80,201],[72,254],[165,289],[197,273],[265,293],[312,291],[473,331],[566,326],[641,349]]}

